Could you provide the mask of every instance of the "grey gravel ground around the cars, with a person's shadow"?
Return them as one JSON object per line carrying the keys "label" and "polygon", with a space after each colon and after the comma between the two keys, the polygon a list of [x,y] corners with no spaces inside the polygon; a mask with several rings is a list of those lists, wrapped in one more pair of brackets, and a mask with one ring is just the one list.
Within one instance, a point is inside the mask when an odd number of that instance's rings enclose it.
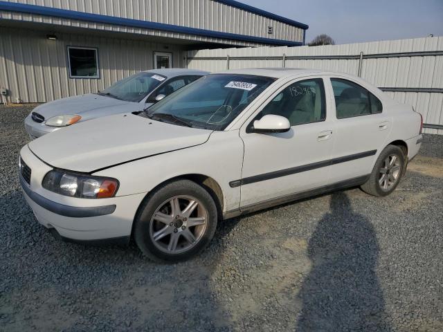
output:
{"label": "grey gravel ground around the cars, with a person's shadow", "polygon": [[29,107],[0,107],[1,331],[443,331],[443,136],[398,189],[220,223],[199,257],[62,243],[19,190]]}

